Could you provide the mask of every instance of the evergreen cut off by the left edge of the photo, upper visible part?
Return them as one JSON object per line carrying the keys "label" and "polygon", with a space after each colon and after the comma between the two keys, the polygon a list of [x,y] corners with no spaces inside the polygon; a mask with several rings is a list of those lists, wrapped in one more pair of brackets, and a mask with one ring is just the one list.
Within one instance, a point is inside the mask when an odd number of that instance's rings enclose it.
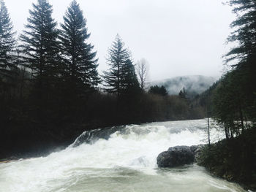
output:
{"label": "evergreen cut off by the left edge of the photo, upper visible part", "polygon": [[13,32],[7,7],[0,0],[0,80],[12,77],[16,65],[13,62],[15,48],[15,32]]}

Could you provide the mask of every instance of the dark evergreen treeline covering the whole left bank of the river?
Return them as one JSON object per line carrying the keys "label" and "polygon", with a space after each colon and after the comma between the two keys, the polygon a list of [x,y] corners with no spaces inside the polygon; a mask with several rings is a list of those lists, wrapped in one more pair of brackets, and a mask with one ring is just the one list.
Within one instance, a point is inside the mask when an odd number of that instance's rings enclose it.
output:
{"label": "dark evergreen treeline covering the whole left bank of the river", "polygon": [[118,35],[108,50],[109,69],[99,75],[77,1],[59,25],[52,14],[50,3],[38,0],[17,35],[0,0],[1,155],[67,145],[91,128],[203,117],[185,94],[147,91],[145,60],[135,65]]}

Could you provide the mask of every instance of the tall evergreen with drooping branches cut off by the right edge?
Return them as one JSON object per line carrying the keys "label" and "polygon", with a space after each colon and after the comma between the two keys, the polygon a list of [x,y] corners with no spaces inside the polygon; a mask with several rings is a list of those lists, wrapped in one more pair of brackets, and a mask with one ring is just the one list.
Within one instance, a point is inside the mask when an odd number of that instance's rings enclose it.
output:
{"label": "tall evergreen with drooping branches cut off by the right edge", "polygon": [[255,0],[230,0],[236,20],[231,23],[234,28],[229,42],[237,42],[226,54],[226,61],[235,61],[233,69],[238,74],[240,87],[239,102],[241,110],[246,111],[250,118],[256,115],[255,94],[256,93],[256,1]]}

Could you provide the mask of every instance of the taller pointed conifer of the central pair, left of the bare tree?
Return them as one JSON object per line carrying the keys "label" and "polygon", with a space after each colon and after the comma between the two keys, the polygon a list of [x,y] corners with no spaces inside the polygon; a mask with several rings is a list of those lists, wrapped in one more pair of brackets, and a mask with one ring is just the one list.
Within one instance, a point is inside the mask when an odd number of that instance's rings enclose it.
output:
{"label": "taller pointed conifer of the central pair, left of the bare tree", "polygon": [[116,93],[121,95],[122,86],[124,86],[124,66],[130,59],[130,53],[127,48],[124,48],[124,42],[117,35],[113,45],[108,50],[108,65],[110,69],[108,72],[103,72],[103,79],[105,81],[106,91],[108,93]]}

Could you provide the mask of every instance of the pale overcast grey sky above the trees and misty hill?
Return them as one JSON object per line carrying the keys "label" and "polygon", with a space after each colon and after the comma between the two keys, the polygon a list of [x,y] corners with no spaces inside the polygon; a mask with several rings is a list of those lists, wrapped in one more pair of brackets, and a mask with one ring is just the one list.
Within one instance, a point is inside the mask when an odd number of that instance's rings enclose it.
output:
{"label": "pale overcast grey sky above the trees and misty hill", "polygon": [[[18,34],[37,0],[4,0]],[[71,0],[49,0],[59,23]],[[222,55],[234,20],[223,0],[77,0],[89,39],[97,50],[99,72],[108,69],[108,47],[118,33],[134,61],[146,58],[150,80],[180,75],[222,74]]]}

